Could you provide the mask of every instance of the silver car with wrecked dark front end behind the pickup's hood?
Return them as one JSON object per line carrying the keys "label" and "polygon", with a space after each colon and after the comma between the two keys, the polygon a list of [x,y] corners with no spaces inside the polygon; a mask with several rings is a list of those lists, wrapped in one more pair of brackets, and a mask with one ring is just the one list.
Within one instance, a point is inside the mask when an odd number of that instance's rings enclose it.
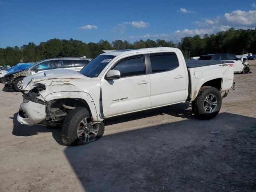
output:
{"label": "silver car with wrecked dark front end behind the pickup's hood", "polygon": [[26,76],[36,74],[38,72],[44,72],[46,70],[66,68],[79,72],[84,66],[86,66],[91,58],[51,58],[36,62],[34,65],[26,68],[25,70],[17,70],[5,74],[1,81],[4,83],[4,88],[7,90],[21,91],[23,88],[23,79]]}

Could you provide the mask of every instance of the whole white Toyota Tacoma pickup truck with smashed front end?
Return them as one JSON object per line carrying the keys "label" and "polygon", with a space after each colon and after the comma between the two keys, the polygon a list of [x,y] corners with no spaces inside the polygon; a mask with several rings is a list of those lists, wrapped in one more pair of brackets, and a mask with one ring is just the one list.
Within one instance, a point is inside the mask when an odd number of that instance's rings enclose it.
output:
{"label": "whole white Toyota Tacoma pickup truck with smashed front end", "polygon": [[62,142],[70,145],[100,138],[106,118],[182,102],[192,102],[198,118],[211,119],[233,86],[233,66],[186,63],[177,48],[107,52],[80,73],[56,69],[24,78],[18,121],[62,126]]}

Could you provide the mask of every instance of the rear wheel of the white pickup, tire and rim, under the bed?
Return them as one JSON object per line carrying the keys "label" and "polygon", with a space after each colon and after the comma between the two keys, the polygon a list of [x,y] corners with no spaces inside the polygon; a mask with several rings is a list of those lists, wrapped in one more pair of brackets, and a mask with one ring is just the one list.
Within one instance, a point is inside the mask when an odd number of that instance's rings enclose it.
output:
{"label": "rear wheel of the white pickup, tire and rim, under the bed", "polygon": [[198,95],[192,101],[192,111],[200,119],[212,119],[220,111],[222,104],[221,94],[218,89],[210,86],[200,88]]}

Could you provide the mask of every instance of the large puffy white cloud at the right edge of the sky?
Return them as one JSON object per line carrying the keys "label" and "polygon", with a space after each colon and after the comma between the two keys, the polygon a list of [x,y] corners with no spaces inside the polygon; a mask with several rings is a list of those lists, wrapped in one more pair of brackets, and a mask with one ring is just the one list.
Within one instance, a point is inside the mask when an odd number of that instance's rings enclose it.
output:
{"label": "large puffy white cloud at the right edge of the sky", "polygon": [[255,11],[241,11],[235,10],[231,13],[225,13],[224,19],[226,22],[234,26],[255,26],[256,25],[256,10]]}

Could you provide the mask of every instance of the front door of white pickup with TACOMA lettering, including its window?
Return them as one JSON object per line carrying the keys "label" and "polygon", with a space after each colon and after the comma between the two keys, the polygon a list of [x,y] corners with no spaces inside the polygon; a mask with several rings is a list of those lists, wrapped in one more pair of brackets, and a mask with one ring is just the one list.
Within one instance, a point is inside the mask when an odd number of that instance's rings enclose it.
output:
{"label": "front door of white pickup with TACOMA lettering, including its window", "polygon": [[144,55],[119,60],[111,68],[120,71],[120,78],[102,77],[102,111],[104,117],[125,114],[151,107],[150,76],[146,74]]}

